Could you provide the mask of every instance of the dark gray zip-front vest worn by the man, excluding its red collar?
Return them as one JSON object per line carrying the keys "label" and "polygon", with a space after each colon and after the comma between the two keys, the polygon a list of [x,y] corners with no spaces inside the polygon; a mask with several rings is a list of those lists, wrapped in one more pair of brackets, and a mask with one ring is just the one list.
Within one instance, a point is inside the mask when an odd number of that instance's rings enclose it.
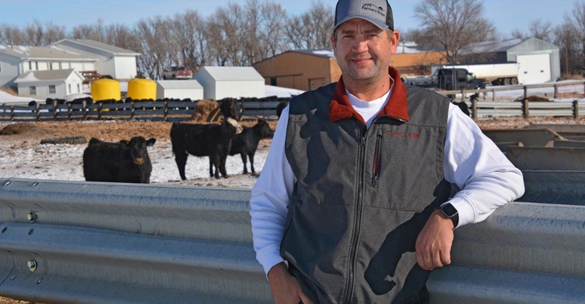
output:
{"label": "dark gray zip-front vest worn by the man, excluding its red collar", "polygon": [[297,177],[281,254],[314,303],[425,303],[414,245],[445,202],[449,99],[407,87],[409,121],[330,122],[335,84],[290,100],[286,158]]}

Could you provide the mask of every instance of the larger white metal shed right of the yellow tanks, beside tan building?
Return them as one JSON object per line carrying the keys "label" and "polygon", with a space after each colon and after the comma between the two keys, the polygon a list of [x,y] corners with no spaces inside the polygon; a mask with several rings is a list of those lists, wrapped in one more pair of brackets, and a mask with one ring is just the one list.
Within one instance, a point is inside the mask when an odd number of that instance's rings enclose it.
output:
{"label": "larger white metal shed right of the yellow tanks, beside tan building", "polygon": [[263,98],[264,78],[253,67],[203,67],[195,75],[205,99]]}

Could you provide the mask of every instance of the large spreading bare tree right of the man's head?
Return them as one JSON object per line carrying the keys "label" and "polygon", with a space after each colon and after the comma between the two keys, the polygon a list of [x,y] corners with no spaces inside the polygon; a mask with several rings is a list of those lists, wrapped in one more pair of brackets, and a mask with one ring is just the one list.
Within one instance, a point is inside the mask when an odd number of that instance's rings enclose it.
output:
{"label": "large spreading bare tree right of the man's head", "polygon": [[473,52],[466,50],[471,43],[495,39],[484,13],[479,0],[423,0],[414,7],[427,39],[421,43],[445,51],[449,63],[458,63],[462,52]]}

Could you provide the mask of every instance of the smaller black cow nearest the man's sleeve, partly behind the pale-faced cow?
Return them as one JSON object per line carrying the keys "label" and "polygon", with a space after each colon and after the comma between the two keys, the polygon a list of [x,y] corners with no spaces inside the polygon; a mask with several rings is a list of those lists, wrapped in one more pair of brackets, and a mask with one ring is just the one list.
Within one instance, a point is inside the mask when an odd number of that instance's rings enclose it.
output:
{"label": "smaller black cow nearest the man's sleeve, partly behind the pale-faced cow", "polygon": [[248,174],[248,168],[246,167],[246,156],[250,159],[250,169],[252,174],[255,175],[254,169],[254,154],[258,148],[258,143],[262,138],[268,138],[272,136],[274,132],[270,129],[268,122],[264,120],[258,120],[258,122],[251,128],[244,128],[242,133],[234,135],[231,140],[230,155],[240,154],[242,156],[242,162],[244,163],[244,174]]}

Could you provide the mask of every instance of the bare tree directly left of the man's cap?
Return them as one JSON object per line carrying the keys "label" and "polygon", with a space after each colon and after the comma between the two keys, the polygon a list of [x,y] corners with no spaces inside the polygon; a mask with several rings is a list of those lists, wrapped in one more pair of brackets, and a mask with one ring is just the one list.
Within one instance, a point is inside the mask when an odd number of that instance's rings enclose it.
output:
{"label": "bare tree directly left of the man's cap", "polygon": [[328,49],[333,31],[334,13],[331,6],[319,0],[310,10],[287,20],[287,43],[293,50]]}

